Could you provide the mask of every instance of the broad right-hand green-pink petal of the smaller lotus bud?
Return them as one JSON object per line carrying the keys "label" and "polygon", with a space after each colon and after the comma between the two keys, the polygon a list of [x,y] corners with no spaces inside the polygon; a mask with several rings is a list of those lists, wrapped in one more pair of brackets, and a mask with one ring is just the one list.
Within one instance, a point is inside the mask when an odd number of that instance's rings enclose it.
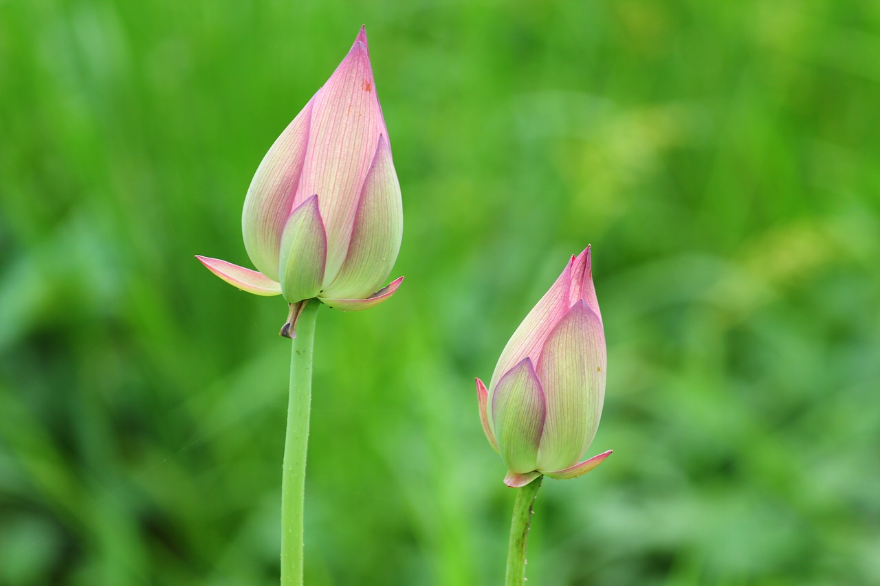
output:
{"label": "broad right-hand green-pink petal of the smaller lotus bud", "polygon": [[605,333],[583,299],[547,336],[538,375],[547,411],[537,469],[561,470],[590,447],[605,400]]}

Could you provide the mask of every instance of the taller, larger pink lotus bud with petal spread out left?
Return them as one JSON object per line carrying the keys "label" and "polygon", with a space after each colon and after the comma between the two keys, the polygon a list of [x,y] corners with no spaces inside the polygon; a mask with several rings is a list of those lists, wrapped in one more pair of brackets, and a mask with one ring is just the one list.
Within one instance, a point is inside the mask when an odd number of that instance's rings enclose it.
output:
{"label": "taller, larger pink lotus bud with petal spread out left", "polygon": [[380,289],[400,250],[403,209],[363,28],[263,157],[241,223],[257,271],[197,257],[238,289],[358,311],[400,286],[403,277]]}

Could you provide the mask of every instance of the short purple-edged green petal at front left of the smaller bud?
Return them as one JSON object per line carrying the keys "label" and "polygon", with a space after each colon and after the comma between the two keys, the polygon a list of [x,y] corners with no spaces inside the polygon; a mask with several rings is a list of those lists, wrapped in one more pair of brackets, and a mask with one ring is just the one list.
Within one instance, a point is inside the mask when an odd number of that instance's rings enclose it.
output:
{"label": "short purple-edged green petal at front left of the smaller bud", "polygon": [[545,407],[532,360],[524,358],[510,369],[489,394],[489,424],[504,464],[520,474],[536,470]]}

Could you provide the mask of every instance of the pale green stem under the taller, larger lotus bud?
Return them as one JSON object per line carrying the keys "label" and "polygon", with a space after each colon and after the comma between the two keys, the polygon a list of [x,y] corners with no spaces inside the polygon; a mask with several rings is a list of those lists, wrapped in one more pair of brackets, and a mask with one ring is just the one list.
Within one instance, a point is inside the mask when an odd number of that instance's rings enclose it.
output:
{"label": "pale green stem under the taller, larger lotus bud", "polygon": [[312,348],[320,305],[317,300],[304,303],[296,322],[290,354],[290,402],[281,485],[282,586],[302,586],[303,583],[305,455],[309,444],[309,410],[312,407]]}

